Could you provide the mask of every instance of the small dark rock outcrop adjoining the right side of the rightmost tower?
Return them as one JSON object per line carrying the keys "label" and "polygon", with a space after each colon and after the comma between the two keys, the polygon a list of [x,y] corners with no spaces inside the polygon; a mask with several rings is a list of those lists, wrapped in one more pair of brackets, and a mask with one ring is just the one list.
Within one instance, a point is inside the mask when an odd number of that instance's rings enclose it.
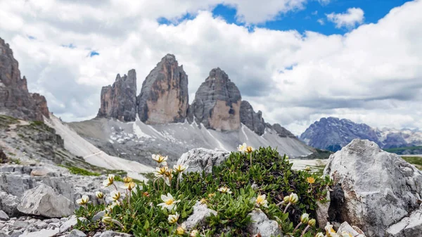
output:
{"label": "small dark rock outcrop adjoining the right side of the rightmost tower", "polygon": [[265,121],[262,118],[262,112],[258,111],[255,113],[248,101],[241,102],[241,123],[258,135],[262,135],[265,132]]}

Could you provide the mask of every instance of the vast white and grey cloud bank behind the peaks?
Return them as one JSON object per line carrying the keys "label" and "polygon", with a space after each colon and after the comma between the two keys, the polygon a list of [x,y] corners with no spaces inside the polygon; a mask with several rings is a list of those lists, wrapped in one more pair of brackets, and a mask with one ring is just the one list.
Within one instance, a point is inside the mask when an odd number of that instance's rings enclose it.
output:
{"label": "vast white and grey cloud bank behind the peaks", "polygon": [[[15,21],[4,26],[0,20],[0,37],[11,44],[29,89],[44,94],[65,121],[94,117],[101,87],[117,73],[136,69],[140,91],[162,56],[173,53],[188,74],[191,100],[220,67],[267,122],[295,134],[326,116],[422,127],[422,1],[345,35],[250,31],[214,18],[217,1],[173,2],[0,1],[0,18],[7,12]],[[187,12],[195,17],[180,20]],[[179,24],[160,25],[160,17]],[[89,57],[92,51],[99,55]]]}

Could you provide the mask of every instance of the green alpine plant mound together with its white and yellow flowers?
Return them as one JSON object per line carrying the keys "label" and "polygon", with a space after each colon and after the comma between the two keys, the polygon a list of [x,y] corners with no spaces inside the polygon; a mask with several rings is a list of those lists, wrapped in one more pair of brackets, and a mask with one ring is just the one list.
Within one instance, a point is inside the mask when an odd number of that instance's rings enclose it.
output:
{"label": "green alpine plant mound together with its white and yellow flowers", "polygon": [[[243,144],[210,173],[188,172],[183,164],[167,167],[161,155],[153,160],[158,167],[149,181],[135,184],[127,177],[117,188],[110,174],[103,185],[115,191],[97,193],[99,205],[78,200],[76,215],[84,218],[76,228],[134,236],[265,236],[251,227],[253,214],[262,212],[274,222],[274,236],[340,236],[329,225],[322,233],[313,218],[317,203],[326,201],[331,179],[292,170],[288,157],[276,149]],[[200,208],[207,214],[200,216]],[[102,211],[103,218],[94,221]]]}

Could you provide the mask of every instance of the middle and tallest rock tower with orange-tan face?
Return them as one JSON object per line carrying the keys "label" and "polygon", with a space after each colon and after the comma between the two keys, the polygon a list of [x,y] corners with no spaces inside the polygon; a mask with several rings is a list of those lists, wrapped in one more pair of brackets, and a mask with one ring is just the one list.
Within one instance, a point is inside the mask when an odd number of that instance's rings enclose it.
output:
{"label": "middle and tallest rock tower with orange-tan face", "polygon": [[188,110],[188,76],[167,54],[143,81],[138,114],[147,124],[184,122]]}

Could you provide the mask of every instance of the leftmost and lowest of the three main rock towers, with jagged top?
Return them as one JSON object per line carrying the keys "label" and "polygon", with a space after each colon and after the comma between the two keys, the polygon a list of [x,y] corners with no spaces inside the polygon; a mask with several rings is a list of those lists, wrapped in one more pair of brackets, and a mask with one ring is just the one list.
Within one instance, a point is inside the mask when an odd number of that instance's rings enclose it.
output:
{"label": "leftmost and lowest of the three main rock towers, with jagged top", "polygon": [[110,117],[122,122],[136,119],[136,72],[129,70],[127,75],[117,74],[113,86],[101,89],[101,108],[97,117]]}

